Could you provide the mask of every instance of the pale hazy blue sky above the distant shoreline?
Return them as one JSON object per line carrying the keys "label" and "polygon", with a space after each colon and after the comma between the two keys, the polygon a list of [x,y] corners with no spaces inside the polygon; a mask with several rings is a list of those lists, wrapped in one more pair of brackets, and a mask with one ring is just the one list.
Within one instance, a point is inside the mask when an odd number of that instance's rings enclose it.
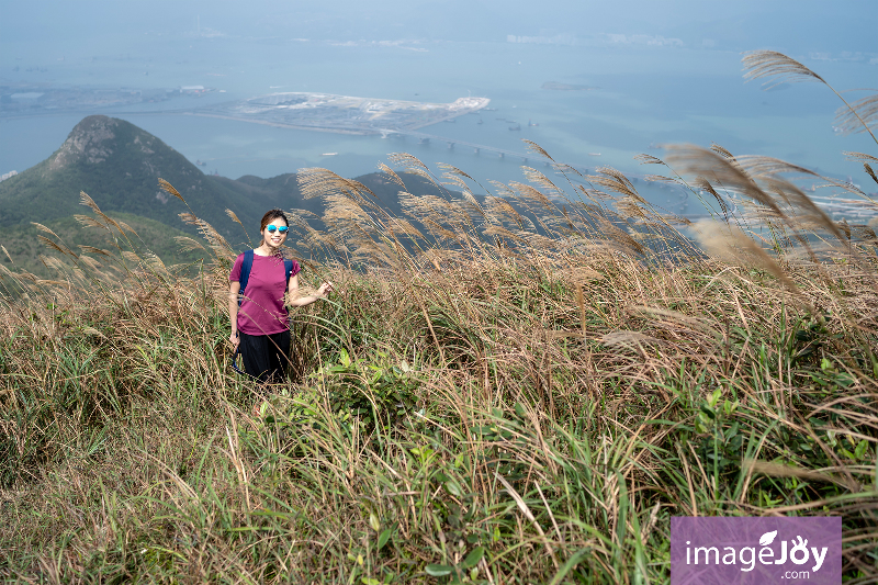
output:
{"label": "pale hazy blue sky above the distant shoreline", "polygon": [[[145,30],[230,36],[500,41],[507,34],[646,34],[733,50],[875,52],[878,1],[844,0],[3,0],[0,43],[101,41]],[[705,43],[707,41],[707,43]],[[95,46],[98,45],[98,46]],[[70,47],[72,48],[72,47]]]}

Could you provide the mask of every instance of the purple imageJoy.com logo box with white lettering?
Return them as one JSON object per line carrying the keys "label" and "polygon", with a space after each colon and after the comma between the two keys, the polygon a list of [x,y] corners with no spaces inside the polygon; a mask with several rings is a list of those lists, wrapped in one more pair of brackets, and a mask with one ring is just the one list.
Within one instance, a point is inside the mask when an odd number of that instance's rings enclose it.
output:
{"label": "purple imageJoy.com logo box with white lettering", "polygon": [[671,585],[836,585],[842,517],[671,518]]}

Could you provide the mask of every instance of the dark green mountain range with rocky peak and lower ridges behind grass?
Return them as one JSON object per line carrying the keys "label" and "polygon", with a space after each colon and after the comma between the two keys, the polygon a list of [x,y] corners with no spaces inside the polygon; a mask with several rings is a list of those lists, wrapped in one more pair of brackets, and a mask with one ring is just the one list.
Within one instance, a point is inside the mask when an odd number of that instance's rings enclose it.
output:
{"label": "dark green mountain range with rocky peak and lower ridges behind grass", "polygon": [[[272,209],[303,209],[323,212],[319,198],[305,200],[295,173],[270,179],[246,176],[237,180],[204,175],[180,153],[158,137],[130,122],[92,115],[74,127],[64,144],[49,158],[0,182],[0,244],[19,268],[45,273],[38,254],[36,228],[31,222],[47,225],[72,244],[92,244],[95,229],[79,229],[75,214],[89,214],[80,204],[86,192],[111,217],[138,232],[144,244],[167,260],[184,260],[173,243],[175,235],[193,234],[194,228],[179,217],[189,209],[159,189],[159,178],[170,182],[185,199],[192,212],[209,222],[229,243],[246,247],[240,226],[226,210],[232,210],[252,237],[262,214]],[[437,193],[431,183],[404,175],[407,185],[419,194]],[[357,178],[367,184],[393,213],[399,213],[399,187],[379,173]],[[148,234],[148,237],[144,237]],[[85,238],[85,239],[83,239]],[[100,238],[99,238],[100,239]],[[99,243],[100,244],[100,243]],[[167,261],[166,260],[166,261]],[[5,255],[0,261],[9,266]]]}

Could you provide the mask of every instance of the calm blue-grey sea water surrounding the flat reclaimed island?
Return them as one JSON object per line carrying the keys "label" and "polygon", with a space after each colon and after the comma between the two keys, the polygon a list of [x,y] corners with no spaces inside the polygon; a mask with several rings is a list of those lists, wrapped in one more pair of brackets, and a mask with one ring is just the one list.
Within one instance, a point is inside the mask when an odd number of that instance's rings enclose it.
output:
{"label": "calm blue-grey sea water surrounding the flat reclaimed island", "polygon": [[[458,167],[493,191],[489,181],[524,181],[524,161],[495,153],[475,153],[444,140],[358,136],[286,130],[259,124],[164,114],[206,103],[279,91],[311,91],[425,102],[451,102],[464,95],[491,98],[492,110],[438,123],[420,132],[527,153],[524,139],[544,148],[555,161],[594,172],[614,167],[633,175],[668,175],[640,166],[639,153],[662,157],[661,146],[718,143],[736,155],[787,159],[836,177],[862,167],[842,150],[874,151],[867,135],[838,136],[833,116],[841,102],[818,83],[762,91],[744,83],[741,55],[686,47],[609,47],[504,42],[344,43],[285,38],[147,38],[142,52],[88,55],[71,49],[64,60],[48,55],[2,57],[4,82],[54,86],[177,88],[201,85],[216,91],[155,104],[109,108],[77,114],[0,119],[0,171],[23,170],[48,157],[89,113],[128,120],[165,140],[190,160],[207,162],[205,172],[238,178],[272,177],[323,167],[345,177],[376,170],[391,153],[406,151],[437,176],[439,162]],[[42,61],[41,61],[42,59]],[[48,63],[45,72],[15,64]],[[808,63],[838,88],[868,85],[876,66],[865,63]],[[554,81],[593,89],[542,89]],[[219,91],[223,91],[222,93]],[[509,130],[510,127],[520,130]],[[329,156],[329,153],[335,153]],[[529,167],[566,183],[541,157]],[[638,188],[669,211],[699,213],[679,193]]]}

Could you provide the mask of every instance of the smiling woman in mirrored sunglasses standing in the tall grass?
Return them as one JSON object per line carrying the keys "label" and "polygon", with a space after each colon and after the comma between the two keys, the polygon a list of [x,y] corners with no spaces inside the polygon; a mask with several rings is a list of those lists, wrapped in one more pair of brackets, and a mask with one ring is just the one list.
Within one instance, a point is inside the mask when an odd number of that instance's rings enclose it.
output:
{"label": "smiling woman in mirrored sunglasses standing in the tall grass", "polygon": [[[289,314],[284,306],[290,291],[292,306],[325,299],[333,284],[324,282],[316,294],[300,297],[295,260],[284,260],[280,248],[286,241],[286,215],[271,210],[262,216],[262,241],[251,252],[238,256],[228,275],[229,341],[244,357],[244,370],[260,382],[282,382],[290,355]],[[289,274],[289,275],[288,275]],[[246,290],[241,291],[241,280]],[[243,293],[243,294],[241,294]]]}

